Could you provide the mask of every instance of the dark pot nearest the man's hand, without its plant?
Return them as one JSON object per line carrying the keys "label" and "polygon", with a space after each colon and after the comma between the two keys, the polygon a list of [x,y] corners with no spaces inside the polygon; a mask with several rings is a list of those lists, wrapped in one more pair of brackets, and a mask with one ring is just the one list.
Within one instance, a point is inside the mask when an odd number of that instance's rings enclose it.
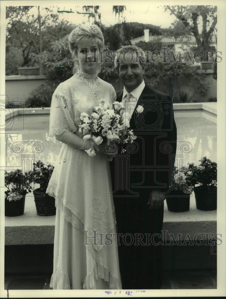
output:
{"label": "dark pot nearest the man's hand, without its plant", "polygon": [[186,212],[190,208],[190,194],[182,190],[172,190],[166,196],[167,208],[171,212]]}

